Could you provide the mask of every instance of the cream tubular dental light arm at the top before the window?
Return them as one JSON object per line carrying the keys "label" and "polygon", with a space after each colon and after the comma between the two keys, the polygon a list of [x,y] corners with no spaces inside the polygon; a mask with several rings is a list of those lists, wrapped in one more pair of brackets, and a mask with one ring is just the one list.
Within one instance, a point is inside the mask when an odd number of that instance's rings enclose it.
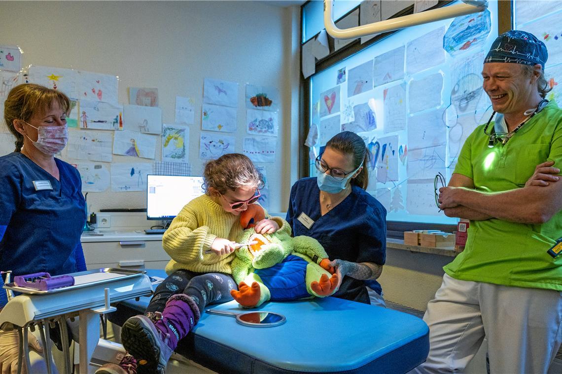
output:
{"label": "cream tubular dental light arm at the top before the window", "polygon": [[430,11],[414,13],[368,25],[351,27],[350,29],[338,29],[332,19],[334,0],[324,0],[324,27],[326,31],[334,39],[354,39],[360,36],[371,34],[386,33],[404,29],[405,27],[428,24],[433,21],[445,20],[453,17],[464,16],[471,13],[478,13],[486,10],[487,1],[471,1],[463,0],[463,4],[456,4],[449,7],[442,7]]}

